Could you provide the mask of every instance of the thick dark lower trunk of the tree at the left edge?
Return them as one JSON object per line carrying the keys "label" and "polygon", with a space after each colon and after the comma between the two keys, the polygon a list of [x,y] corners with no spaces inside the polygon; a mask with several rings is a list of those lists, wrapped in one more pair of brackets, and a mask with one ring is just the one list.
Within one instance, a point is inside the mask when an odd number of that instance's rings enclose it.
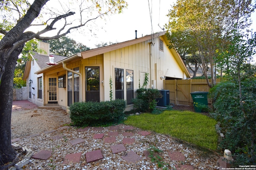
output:
{"label": "thick dark lower trunk of the tree at the left edge", "polygon": [[23,47],[24,44],[20,45],[8,57],[7,67],[2,74],[0,84],[0,166],[11,162],[16,157],[16,152],[11,145],[12,88],[16,61]]}

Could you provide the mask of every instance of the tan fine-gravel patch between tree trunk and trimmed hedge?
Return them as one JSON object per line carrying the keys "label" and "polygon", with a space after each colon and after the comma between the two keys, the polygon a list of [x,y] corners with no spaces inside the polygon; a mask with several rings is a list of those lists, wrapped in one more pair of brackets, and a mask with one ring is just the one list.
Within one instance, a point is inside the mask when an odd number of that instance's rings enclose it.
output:
{"label": "tan fine-gravel patch between tree trunk and trimmed hedge", "polygon": [[63,109],[27,109],[17,106],[12,110],[12,139],[57,129],[70,122],[69,114]]}

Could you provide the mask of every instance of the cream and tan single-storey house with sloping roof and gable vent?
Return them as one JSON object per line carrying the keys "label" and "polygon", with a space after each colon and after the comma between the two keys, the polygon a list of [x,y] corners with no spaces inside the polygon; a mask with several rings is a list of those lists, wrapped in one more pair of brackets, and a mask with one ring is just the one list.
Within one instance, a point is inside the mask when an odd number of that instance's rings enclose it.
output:
{"label": "cream and tan single-storey house with sloping roof and gable vent", "polygon": [[[60,61],[54,58],[57,65],[33,72],[36,82],[42,80],[40,106],[58,104],[68,109],[73,102],[113,98],[126,100],[129,110],[135,91],[142,86],[147,74],[147,88],[159,90],[164,89],[165,79],[190,78],[180,55],[167,47],[165,33],[83,51]],[[32,76],[31,71],[27,80]],[[38,93],[37,99],[39,91],[34,93]]]}

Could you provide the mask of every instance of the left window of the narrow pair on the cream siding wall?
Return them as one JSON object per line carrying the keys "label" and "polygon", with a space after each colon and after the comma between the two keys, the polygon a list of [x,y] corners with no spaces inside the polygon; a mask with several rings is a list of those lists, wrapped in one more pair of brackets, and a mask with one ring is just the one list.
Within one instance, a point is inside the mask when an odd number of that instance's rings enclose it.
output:
{"label": "left window of the narrow pair on the cream siding wall", "polygon": [[124,69],[115,68],[116,99],[124,99]]}

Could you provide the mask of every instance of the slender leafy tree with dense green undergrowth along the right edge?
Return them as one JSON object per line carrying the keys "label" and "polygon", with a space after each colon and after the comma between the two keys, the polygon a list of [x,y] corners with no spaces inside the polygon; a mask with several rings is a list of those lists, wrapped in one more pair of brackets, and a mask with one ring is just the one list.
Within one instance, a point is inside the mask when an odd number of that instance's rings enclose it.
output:
{"label": "slender leafy tree with dense green undergrowth along the right edge", "polygon": [[234,166],[256,163],[256,79],[252,58],[256,54],[256,33],[232,30],[224,51],[216,50],[226,81],[211,89],[212,115],[225,129],[220,146],[235,155]]}

